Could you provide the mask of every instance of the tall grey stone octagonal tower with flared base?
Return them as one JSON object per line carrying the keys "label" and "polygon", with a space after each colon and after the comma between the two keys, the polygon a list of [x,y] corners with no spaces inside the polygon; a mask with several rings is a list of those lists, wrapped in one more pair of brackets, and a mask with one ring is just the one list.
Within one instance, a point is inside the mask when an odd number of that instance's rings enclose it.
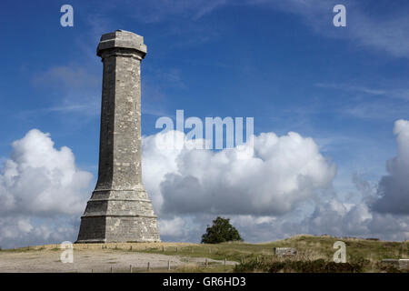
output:
{"label": "tall grey stone octagonal tower with flared base", "polygon": [[124,30],[102,35],[96,55],[104,63],[98,182],[76,242],[158,242],[141,169],[144,37]]}

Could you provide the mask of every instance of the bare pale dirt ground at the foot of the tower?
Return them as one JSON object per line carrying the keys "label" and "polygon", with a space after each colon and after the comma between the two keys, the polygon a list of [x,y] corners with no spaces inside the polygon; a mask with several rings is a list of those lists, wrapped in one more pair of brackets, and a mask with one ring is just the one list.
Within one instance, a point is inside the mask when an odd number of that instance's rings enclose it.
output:
{"label": "bare pale dirt ground at the foot of the tower", "polygon": [[[140,246],[143,247],[143,246]],[[60,256],[63,249],[45,247],[44,249],[31,249],[27,251],[0,252],[0,272],[2,273],[48,273],[48,272],[80,272],[80,273],[106,273],[111,272],[144,272],[149,266],[152,271],[167,270],[168,261],[171,269],[180,266],[205,265],[205,257],[166,256],[149,254],[122,249],[97,249],[75,247],[74,263],[63,264]],[[222,264],[222,261],[208,259],[209,264]],[[233,265],[235,262],[226,262]]]}

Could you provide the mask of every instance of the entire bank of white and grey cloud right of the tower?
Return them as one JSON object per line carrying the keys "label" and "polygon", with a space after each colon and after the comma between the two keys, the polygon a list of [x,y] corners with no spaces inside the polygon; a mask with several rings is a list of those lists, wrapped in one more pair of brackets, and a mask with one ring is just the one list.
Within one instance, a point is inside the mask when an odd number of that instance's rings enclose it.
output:
{"label": "entire bank of white and grey cloud right of the tower", "polygon": [[[399,184],[395,181],[391,186],[401,190],[409,174],[407,129],[407,122],[396,123],[398,155],[388,162],[391,176],[400,179]],[[172,141],[173,135],[179,140],[185,137],[180,132],[146,136],[143,152],[145,187],[167,240],[183,237],[198,241],[205,226],[219,215],[230,217],[244,239],[251,242],[304,233],[409,238],[409,217],[373,211],[374,188],[366,181],[352,176],[354,196],[361,196],[360,202],[337,197],[331,188],[335,166],[320,154],[312,138],[296,133],[261,134],[254,137],[253,155],[239,159],[236,149],[213,152],[156,146],[157,137],[164,142]],[[404,193],[399,192],[389,203],[404,201]],[[313,206],[310,212],[304,207],[306,201],[312,202],[308,204]]]}

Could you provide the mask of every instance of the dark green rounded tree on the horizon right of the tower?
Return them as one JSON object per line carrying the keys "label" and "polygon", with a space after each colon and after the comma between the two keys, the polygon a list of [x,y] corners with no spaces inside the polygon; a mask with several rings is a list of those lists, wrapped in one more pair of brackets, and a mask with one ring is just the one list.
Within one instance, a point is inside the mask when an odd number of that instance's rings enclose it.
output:
{"label": "dark green rounded tree on the horizon right of the tower", "polygon": [[202,244],[219,244],[230,241],[243,241],[237,229],[230,224],[229,218],[217,216],[213,226],[207,226],[202,236]]}

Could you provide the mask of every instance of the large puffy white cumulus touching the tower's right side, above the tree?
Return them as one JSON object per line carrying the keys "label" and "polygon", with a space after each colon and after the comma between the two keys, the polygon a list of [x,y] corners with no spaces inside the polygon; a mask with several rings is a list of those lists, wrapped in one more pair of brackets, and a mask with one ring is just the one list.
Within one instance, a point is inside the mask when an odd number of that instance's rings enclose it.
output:
{"label": "large puffy white cumulus touching the tower's right side, above the tree", "polygon": [[160,214],[282,215],[332,185],[335,166],[312,138],[290,132],[254,136],[254,153],[161,149],[145,137],[144,183]]}

